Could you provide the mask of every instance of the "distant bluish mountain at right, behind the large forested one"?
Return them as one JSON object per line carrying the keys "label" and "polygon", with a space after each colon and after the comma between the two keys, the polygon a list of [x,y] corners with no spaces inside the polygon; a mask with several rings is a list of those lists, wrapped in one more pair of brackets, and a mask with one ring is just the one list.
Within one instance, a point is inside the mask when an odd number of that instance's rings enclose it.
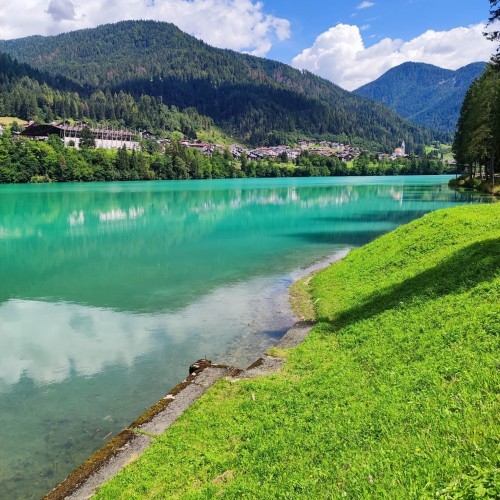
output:
{"label": "distant bluish mountain at right, behind the large forested one", "polygon": [[407,62],[354,92],[388,106],[414,123],[453,132],[465,93],[485,68],[485,62],[468,64],[456,71]]}

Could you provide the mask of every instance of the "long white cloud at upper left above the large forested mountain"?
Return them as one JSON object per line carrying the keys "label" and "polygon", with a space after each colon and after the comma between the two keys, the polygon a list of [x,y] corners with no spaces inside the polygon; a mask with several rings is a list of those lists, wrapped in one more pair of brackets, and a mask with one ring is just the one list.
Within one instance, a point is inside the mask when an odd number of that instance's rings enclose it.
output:
{"label": "long white cloud at upper left above the large forested mountain", "polygon": [[263,11],[255,0],[25,0],[0,5],[2,38],[95,27],[125,19],[176,24],[211,45],[263,56],[290,36],[290,23]]}

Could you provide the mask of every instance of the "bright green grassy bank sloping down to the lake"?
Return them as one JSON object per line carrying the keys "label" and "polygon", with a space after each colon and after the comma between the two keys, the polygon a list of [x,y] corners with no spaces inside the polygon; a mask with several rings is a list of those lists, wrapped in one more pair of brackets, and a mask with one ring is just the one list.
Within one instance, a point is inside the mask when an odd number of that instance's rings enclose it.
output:
{"label": "bright green grassy bank sloping down to the lake", "polygon": [[500,203],[429,214],[310,287],[317,326],[279,374],[218,383],[98,498],[497,497]]}

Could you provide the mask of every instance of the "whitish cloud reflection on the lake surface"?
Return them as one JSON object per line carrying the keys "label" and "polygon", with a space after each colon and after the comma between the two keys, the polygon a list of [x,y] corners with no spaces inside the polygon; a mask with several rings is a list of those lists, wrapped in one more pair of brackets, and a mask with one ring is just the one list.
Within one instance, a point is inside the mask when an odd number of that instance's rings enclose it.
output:
{"label": "whitish cloud reflection on the lake surface", "polygon": [[[218,288],[176,312],[131,314],[78,304],[9,300],[0,305],[0,390],[26,376],[37,384],[132,366],[156,349],[186,344],[199,356],[221,356],[234,338],[285,328],[282,293],[290,278],[257,278]],[[258,314],[256,314],[258,311]],[[194,359],[193,359],[194,361]]]}

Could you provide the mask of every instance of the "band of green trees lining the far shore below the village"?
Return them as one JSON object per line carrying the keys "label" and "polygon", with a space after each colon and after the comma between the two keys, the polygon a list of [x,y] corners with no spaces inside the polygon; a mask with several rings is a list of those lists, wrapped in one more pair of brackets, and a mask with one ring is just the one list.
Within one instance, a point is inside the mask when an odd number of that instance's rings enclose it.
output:
{"label": "band of green trees lining the far shore below the village", "polygon": [[161,152],[155,144],[145,144],[146,151],[75,149],[64,147],[58,136],[43,142],[6,132],[0,139],[0,183],[446,173],[441,162],[429,158],[374,163],[365,155],[348,164],[305,152],[295,163],[286,157],[249,161],[245,153],[237,161],[227,150],[209,157],[178,143]]}

